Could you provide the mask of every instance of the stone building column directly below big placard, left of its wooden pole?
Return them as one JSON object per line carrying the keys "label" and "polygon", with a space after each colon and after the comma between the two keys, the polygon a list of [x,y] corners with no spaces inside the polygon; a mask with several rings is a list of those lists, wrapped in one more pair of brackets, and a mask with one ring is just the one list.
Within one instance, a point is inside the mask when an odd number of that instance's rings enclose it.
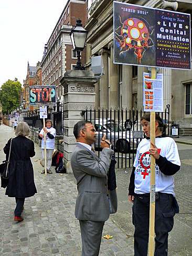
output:
{"label": "stone building column directly below big placard, left of its wooden pole", "polygon": [[133,108],[132,66],[122,65],[122,108]]}

